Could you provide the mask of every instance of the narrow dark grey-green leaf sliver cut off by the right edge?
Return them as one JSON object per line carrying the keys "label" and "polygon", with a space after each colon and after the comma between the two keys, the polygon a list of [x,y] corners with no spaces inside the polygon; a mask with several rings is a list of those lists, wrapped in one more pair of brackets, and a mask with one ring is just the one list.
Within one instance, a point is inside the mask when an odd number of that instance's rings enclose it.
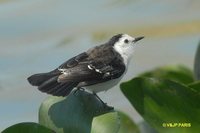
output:
{"label": "narrow dark grey-green leaf sliver cut off by the right edge", "polygon": [[200,80],[200,42],[194,60],[194,75],[197,80]]}

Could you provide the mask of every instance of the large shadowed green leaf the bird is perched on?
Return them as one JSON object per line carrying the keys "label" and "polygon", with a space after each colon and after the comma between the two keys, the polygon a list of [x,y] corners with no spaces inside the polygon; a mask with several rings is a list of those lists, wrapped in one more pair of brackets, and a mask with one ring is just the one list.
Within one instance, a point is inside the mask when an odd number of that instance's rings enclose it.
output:
{"label": "large shadowed green leaf the bird is perched on", "polygon": [[[50,96],[46,99],[40,107],[39,123],[57,133],[89,133],[93,117],[108,113],[111,109],[93,94],[76,90],[68,97]],[[111,115],[116,115],[113,113]],[[114,128],[111,131],[115,131],[116,125],[111,124],[109,128]]]}

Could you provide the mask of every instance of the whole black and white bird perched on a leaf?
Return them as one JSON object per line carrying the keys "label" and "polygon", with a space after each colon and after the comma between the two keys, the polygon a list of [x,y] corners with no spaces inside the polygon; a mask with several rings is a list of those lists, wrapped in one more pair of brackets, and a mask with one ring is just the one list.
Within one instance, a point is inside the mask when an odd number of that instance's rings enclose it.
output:
{"label": "whole black and white bird perched on a leaf", "polygon": [[105,44],[83,52],[58,68],[28,78],[42,92],[67,96],[73,88],[86,88],[97,93],[115,86],[126,73],[136,42],[144,37],[127,34],[113,36]]}

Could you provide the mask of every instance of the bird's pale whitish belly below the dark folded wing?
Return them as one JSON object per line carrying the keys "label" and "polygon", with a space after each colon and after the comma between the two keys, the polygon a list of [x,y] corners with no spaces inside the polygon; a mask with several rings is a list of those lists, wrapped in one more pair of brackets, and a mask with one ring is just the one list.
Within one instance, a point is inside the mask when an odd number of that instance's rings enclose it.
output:
{"label": "bird's pale whitish belly below the dark folded wing", "polygon": [[119,83],[119,81],[122,79],[123,76],[117,78],[117,79],[113,79],[113,80],[109,80],[103,83],[99,83],[99,84],[95,84],[95,85],[91,85],[91,86],[86,86],[85,88],[91,92],[100,92],[100,91],[107,91],[108,89],[114,87],[115,85],[117,85]]}

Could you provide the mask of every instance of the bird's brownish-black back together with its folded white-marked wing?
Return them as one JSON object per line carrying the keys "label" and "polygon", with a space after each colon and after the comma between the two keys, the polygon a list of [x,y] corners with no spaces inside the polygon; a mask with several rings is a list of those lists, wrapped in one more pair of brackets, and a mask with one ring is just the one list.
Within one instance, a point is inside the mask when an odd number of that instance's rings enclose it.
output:
{"label": "bird's brownish-black back together with its folded white-marked wing", "polygon": [[[58,82],[100,83],[120,77],[125,71],[121,56],[111,47],[98,47],[63,63]],[[90,83],[91,82],[91,83]]]}

